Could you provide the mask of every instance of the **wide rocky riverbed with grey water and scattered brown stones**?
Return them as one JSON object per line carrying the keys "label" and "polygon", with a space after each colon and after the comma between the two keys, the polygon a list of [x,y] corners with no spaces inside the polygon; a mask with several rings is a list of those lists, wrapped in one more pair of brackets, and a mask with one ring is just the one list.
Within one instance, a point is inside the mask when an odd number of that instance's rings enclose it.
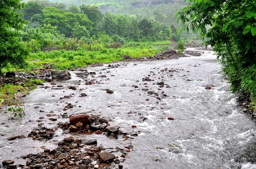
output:
{"label": "wide rocky riverbed with grey water and scattered brown stones", "polygon": [[[253,125],[236,112],[235,95],[212,56],[191,51],[190,59],[157,61],[166,53],[154,61],[80,68],[70,71],[69,80],[31,91],[22,99],[26,116],[1,114],[3,167],[241,168],[248,162],[244,156],[253,160],[246,150],[236,151],[253,140]],[[206,56],[201,60],[198,53]],[[164,57],[176,59],[172,51]],[[50,74],[48,68],[44,72]],[[238,119],[244,124],[239,128]],[[236,130],[227,133],[227,125]],[[205,156],[210,159],[204,161]]]}

